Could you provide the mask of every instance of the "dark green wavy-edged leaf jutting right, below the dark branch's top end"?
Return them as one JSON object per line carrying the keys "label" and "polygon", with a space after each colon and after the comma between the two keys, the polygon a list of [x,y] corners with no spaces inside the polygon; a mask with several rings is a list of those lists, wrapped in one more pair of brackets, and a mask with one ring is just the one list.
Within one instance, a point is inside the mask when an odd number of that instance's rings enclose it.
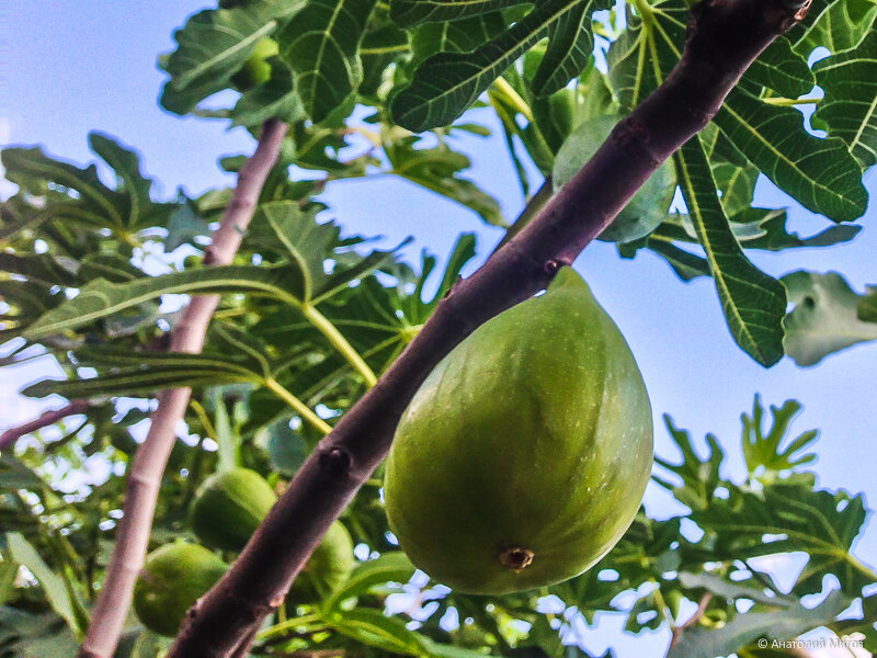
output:
{"label": "dark green wavy-edged leaf jutting right, below the dark branch's top end", "polygon": [[768,105],[737,88],[715,121],[750,162],[806,208],[834,222],[865,213],[868,194],[855,158],[840,139],[806,133],[797,110]]}

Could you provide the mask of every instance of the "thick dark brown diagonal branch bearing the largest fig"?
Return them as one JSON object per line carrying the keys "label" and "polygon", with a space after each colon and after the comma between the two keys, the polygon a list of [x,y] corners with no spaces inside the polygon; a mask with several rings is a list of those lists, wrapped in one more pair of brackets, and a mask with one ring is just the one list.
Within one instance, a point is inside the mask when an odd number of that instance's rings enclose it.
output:
{"label": "thick dark brown diagonal branch bearing the largest fig", "polygon": [[[794,0],[793,0],[794,1]],[[667,80],[520,234],[458,282],[377,385],[317,445],[223,579],[190,610],[169,658],[226,658],[284,600],[330,524],[384,460],[420,384],[479,325],[545,288],[685,141],[759,54],[809,7],[706,0]]]}

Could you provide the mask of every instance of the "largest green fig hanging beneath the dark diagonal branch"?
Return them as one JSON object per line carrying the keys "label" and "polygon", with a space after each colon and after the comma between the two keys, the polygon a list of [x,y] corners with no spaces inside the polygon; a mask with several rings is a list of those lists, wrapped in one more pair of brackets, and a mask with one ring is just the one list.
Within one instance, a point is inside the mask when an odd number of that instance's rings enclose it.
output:
{"label": "largest green fig hanging beneath the dark diagonal branch", "polygon": [[434,580],[523,591],[603,557],[634,520],[651,464],[651,406],[634,355],[565,268],[426,377],[387,461],[387,517]]}

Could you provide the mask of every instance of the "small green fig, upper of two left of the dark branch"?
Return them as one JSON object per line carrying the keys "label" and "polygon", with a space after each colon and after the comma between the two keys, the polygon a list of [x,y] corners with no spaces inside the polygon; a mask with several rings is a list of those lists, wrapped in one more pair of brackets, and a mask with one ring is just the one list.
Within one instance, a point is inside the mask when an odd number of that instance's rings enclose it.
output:
{"label": "small green fig, upper of two left of the dark branch", "polygon": [[240,551],[276,501],[274,489],[255,470],[232,468],[204,480],[189,521],[205,544]]}

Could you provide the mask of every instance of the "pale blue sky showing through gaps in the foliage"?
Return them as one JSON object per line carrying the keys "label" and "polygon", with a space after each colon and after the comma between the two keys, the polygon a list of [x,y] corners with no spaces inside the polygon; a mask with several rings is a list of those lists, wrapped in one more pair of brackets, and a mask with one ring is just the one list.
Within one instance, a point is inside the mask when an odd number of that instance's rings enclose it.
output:
{"label": "pale blue sky showing through gaps in the foliage", "polygon": [[[173,29],[203,2],[153,0],[141,5],[148,10],[139,11],[132,9],[133,3],[106,0],[32,0],[7,7],[8,34],[0,33],[8,46],[0,49],[0,58],[2,50],[9,58],[5,67],[0,66],[0,75],[5,69],[7,76],[7,84],[0,83],[0,94],[5,94],[0,95],[0,144],[42,144],[52,155],[84,162],[91,159],[86,136],[99,129],[143,154],[146,171],[162,183],[163,195],[172,195],[178,186],[196,194],[231,182],[217,159],[251,151],[249,135],[227,131],[223,122],[170,115],[156,101],[163,80],[156,58],[172,48]],[[460,148],[474,155],[471,178],[500,198],[506,216],[513,217],[522,200],[502,140],[471,137]],[[866,182],[877,196],[874,171]],[[0,185],[5,195],[9,185]],[[399,180],[333,185],[326,195],[332,216],[352,232],[386,236],[388,245],[412,235],[412,257],[421,248],[443,257],[464,230],[478,234],[481,253],[500,237],[472,213]],[[793,205],[770,183],[760,184],[758,194],[765,206]],[[875,215],[877,205],[872,203],[861,220],[866,229],[851,245],[758,253],[753,260],[775,275],[797,269],[835,270],[862,291],[865,284],[877,283],[877,229],[867,226]],[[790,216],[793,228],[804,234],[828,226],[800,207],[793,207]],[[623,261],[604,243],[589,247],[576,265],[637,355],[656,412],[658,454],[675,457],[660,420],[667,412],[698,441],[706,432],[717,434],[729,452],[731,472],[739,473],[739,416],[751,409],[753,395],[760,393],[765,404],[773,405],[796,398],[805,408],[794,429],[822,430],[813,467],[820,485],[864,491],[877,506],[872,461],[877,344],[846,350],[812,368],[799,368],[786,359],[764,370],[731,340],[711,281],[684,284],[657,257]],[[22,400],[15,390],[44,372],[49,371],[20,368],[4,374],[0,429],[38,411],[44,402]],[[654,509],[665,509],[653,491],[648,500]],[[857,554],[877,566],[877,523],[866,529]]]}

